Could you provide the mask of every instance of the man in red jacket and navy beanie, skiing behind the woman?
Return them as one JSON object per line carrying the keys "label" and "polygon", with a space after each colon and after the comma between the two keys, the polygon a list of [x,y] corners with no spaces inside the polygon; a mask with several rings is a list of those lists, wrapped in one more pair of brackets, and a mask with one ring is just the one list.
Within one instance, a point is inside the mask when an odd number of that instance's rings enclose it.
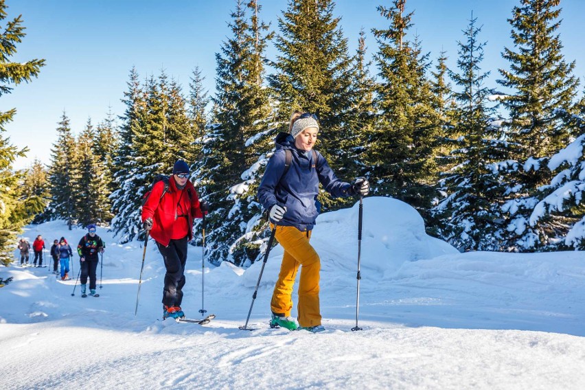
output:
{"label": "man in red jacket and navy beanie, skiing behind the woman", "polygon": [[195,187],[189,181],[189,166],[185,161],[174,163],[172,176],[158,181],[142,206],[144,229],[157,246],[165,262],[163,288],[163,319],[181,318],[187,242],[193,238],[193,218],[207,214],[205,202],[199,202]]}

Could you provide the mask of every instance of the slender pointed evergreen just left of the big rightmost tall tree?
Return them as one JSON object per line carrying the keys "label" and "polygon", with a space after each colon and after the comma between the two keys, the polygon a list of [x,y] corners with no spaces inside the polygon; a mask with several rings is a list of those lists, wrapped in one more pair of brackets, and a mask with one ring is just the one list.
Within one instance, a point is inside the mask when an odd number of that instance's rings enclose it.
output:
{"label": "slender pointed evergreen just left of the big rightmost tall tree", "polygon": [[450,153],[454,165],[440,183],[447,197],[433,213],[440,219],[441,237],[461,251],[497,250],[501,241],[501,226],[494,222],[493,199],[501,192],[494,162],[505,153],[498,128],[489,126],[494,111],[488,107],[488,89],[483,82],[488,73],[481,72],[483,47],[478,41],[481,27],[477,19],[470,20],[465,42],[459,42],[459,73],[448,71],[460,88],[454,93],[458,103],[452,133],[457,138]]}

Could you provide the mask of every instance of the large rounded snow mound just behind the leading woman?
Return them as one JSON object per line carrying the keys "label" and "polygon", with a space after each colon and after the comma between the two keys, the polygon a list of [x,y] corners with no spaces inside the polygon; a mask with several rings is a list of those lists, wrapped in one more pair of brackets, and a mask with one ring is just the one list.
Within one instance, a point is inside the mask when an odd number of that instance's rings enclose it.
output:
{"label": "large rounded snow mound just behind the leading woman", "polygon": [[[325,284],[345,284],[348,274],[354,275],[355,279],[358,218],[359,201],[351,208],[321,214],[317,218],[311,242],[321,257],[321,278]],[[406,203],[385,197],[363,199],[360,255],[363,278],[391,277],[404,262],[458,253],[450,244],[428,236],[422,217]],[[272,249],[262,275],[262,285],[275,284],[282,254],[282,246]],[[255,286],[261,266],[262,262],[256,262],[246,270],[242,278],[244,286]]]}

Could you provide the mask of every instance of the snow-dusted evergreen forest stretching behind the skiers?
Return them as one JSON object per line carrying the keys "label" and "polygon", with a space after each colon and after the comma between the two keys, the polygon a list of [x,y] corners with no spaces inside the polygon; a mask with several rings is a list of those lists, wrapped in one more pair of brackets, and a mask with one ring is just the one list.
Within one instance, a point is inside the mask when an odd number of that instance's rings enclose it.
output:
{"label": "snow-dusted evergreen forest stretching behind the skiers", "polygon": [[[231,35],[216,54],[216,93],[207,97],[198,69],[186,93],[163,72],[141,82],[130,71],[121,124],[104,122],[107,139],[85,130],[93,163],[82,168],[87,153],[54,146],[46,216],[85,223],[113,215],[119,239],[133,240],[141,196],[156,174],[185,159],[211,204],[209,260],[245,266],[265,244],[255,192],[273,139],[301,110],[319,117],[317,149],[342,179],[367,177],[373,196],[409,203],[429,233],[461,251],[585,249],[585,100],[575,63],[561,53],[560,1],[520,0],[512,9],[514,45],[502,51],[509,70],[499,69],[503,92],[485,85],[477,19],[468,21],[457,67],[448,69],[446,53],[430,58],[411,38],[415,15],[405,3],[378,7],[388,27],[372,30],[378,49],[368,54],[365,32],[349,52],[333,1],[288,1],[273,32],[258,1],[236,0]],[[266,58],[269,42],[276,58]],[[80,147],[82,135],[70,144]],[[110,149],[98,150],[104,142]],[[73,165],[61,170],[59,161]],[[82,182],[81,172],[100,183]],[[57,185],[65,174],[75,175],[67,194]],[[320,197],[323,211],[352,202]]]}

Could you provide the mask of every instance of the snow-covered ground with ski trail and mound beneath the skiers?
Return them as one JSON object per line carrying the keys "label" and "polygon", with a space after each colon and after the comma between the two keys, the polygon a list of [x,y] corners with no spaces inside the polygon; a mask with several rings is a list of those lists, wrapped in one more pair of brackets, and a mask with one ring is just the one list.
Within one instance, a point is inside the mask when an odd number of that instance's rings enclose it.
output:
{"label": "snow-covered ground with ski trail and mound beneath the skiers", "polygon": [[[147,246],[138,314],[140,242],[106,240],[99,298],[71,296],[47,268],[0,267],[3,389],[585,389],[585,254],[458,253],[426,236],[422,219],[391,198],[365,198],[356,325],[358,205],[323,214],[327,332],[268,328],[282,248],[245,272],[205,268],[208,325],[160,321],[164,267]],[[72,246],[85,233],[62,222],[27,227]],[[201,318],[201,248],[191,247],[183,309]],[[16,251],[15,251],[16,257]],[[206,265],[207,267],[207,265]],[[103,279],[100,274],[103,273]],[[101,287],[101,288],[100,288]],[[296,301],[296,290],[295,290]],[[293,310],[293,315],[296,310]]]}

